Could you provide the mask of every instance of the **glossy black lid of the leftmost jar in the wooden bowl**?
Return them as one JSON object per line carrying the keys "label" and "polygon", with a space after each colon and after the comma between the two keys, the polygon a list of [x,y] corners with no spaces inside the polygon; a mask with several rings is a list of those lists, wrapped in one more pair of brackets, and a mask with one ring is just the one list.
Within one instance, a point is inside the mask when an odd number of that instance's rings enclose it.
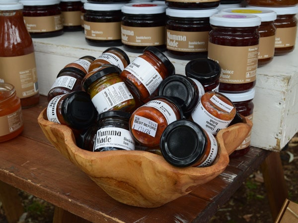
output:
{"label": "glossy black lid of the leftmost jar in the wooden bowl", "polygon": [[75,129],[88,127],[97,117],[90,96],[84,91],[70,93],[62,103],[61,113],[69,126]]}

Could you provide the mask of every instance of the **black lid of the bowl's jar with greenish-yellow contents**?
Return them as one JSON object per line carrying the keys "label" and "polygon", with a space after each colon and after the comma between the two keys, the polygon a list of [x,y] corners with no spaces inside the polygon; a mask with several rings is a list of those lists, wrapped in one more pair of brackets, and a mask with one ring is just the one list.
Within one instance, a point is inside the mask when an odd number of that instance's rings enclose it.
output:
{"label": "black lid of the bowl's jar with greenish-yellow contents", "polygon": [[110,73],[118,73],[120,75],[121,69],[113,64],[103,64],[99,67],[97,72],[93,73],[84,81],[83,88],[87,90],[94,81]]}

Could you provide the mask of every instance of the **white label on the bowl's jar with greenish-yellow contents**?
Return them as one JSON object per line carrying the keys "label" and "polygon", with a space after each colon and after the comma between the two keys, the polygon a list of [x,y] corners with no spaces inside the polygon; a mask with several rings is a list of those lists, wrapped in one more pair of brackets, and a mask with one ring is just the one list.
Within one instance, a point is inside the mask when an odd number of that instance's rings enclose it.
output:
{"label": "white label on the bowl's jar with greenish-yellow contents", "polygon": [[124,82],[115,83],[98,92],[92,99],[98,113],[108,111],[121,103],[134,99]]}

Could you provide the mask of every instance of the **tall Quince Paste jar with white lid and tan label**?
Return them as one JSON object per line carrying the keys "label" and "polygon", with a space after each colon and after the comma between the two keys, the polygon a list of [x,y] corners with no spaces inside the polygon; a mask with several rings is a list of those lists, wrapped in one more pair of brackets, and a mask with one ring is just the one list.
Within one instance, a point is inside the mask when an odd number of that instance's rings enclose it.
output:
{"label": "tall Quince Paste jar with white lid and tan label", "polygon": [[210,17],[210,24],[208,58],[221,66],[219,90],[236,93],[252,89],[256,84],[261,18],[218,13]]}

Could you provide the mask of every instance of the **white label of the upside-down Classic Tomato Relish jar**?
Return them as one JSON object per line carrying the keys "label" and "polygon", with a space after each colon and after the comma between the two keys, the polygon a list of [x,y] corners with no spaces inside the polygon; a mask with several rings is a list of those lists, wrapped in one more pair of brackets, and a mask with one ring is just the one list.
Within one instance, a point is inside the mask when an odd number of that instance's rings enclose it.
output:
{"label": "white label of the upside-down Classic Tomato Relish jar", "polygon": [[216,135],[221,129],[226,128],[231,120],[226,121],[213,116],[202,105],[201,101],[191,113],[192,119],[206,131]]}

